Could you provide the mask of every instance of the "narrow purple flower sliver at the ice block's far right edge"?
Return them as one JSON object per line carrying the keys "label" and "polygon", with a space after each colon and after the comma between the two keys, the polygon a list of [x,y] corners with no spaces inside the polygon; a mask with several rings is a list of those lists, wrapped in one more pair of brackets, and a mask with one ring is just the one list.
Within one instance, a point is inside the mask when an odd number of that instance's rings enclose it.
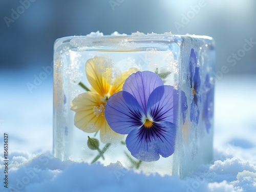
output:
{"label": "narrow purple flower sliver at the ice block's far right edge", "polygon": [[204,102],[203,117],[206,123],[207,133],[209,133],[211,119],[214,116],[214,87],[212,86],[212,83],[210,83],[209,74],[207,74],[205,78],[205,91],[206,98]]}

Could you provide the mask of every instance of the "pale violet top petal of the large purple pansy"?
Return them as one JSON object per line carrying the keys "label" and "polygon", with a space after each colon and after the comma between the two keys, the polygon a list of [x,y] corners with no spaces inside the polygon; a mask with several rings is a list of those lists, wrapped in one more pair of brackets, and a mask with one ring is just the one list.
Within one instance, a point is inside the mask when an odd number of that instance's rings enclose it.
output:
{"label": "pale violet top petal of the large purple pansy", "polygon": [[147,100],[159,86],[163,86],[163,81],[157,74],[150,71],[139,71],[126,79],[123,91],[132,94],[146,113]]}

